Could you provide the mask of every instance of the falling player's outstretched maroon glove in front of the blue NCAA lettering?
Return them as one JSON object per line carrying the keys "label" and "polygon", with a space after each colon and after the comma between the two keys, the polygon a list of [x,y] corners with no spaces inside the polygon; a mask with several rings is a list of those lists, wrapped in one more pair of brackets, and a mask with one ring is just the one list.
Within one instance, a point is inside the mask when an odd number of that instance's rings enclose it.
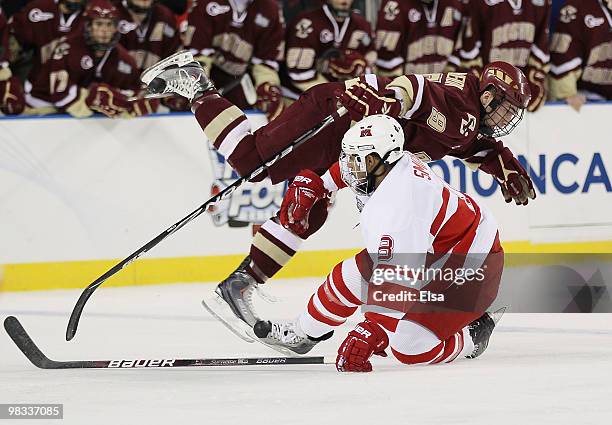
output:
{"label": "falling player's outstretched maroon glove in front of the blue NCAA lettering", "polygon": [[484,157],[480,169],[497,179],[506,202],[514,200],[516,205],[527,205],[529,199],[536,198],[527,170],[501,142],[496,142],[496,147]]}

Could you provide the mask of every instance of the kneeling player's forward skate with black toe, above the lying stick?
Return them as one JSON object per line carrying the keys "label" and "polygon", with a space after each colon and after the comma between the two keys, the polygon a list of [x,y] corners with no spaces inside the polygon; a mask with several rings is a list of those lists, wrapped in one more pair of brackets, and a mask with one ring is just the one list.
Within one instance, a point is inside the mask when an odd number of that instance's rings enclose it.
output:
{"label": "kneeling player's forward skate with black toe, above the lying stick", "polygon": [[307,336],[295,322],[271,322],[260,320],[253,326],[259,342],[283,354],[306,354],[320,341],[329,339],[333,331],[320,338]]}

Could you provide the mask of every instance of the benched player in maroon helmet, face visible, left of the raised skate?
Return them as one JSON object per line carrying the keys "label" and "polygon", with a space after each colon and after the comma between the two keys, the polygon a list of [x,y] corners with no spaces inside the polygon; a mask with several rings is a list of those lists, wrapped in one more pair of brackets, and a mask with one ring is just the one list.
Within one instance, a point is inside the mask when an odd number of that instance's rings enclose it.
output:
{"label": "benched player in maroon helmet, face visible, left of the raised skate", "polygon": [[117,9],[108,0],[90,0],[83,32],[62,40],[26,82],[30,113],[67,112],[86,117],[101,112],[111,117],[153,112],[154,102],[128,102],[125,93],[139,91],[134,59],[117,44]]}

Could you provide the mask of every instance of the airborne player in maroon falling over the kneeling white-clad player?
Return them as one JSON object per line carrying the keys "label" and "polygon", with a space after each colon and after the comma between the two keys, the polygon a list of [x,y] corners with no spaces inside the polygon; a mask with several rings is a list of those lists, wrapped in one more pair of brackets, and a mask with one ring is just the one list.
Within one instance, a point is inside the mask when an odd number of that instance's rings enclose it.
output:
{"label": "airborne player in maroon falling over the kneeling white-clad player", "polygon": [[[312,140],[267,168],[272,182],[292,179],[302,169],[322,174],[340,154],[340,141],[355,121],[386,113],[403,126],[405,148],[424,161],[452,155],[492,174],[507,202],[526,205],[535,199],[527,171],[497,141],[520,122],[530,100],[529,86],[516,67],[495,62],[480,79],[471,74],[404,75],[393,80],[368,74],[344,83],[320,84],[306,91],[278,119],[255,132],[246,116],[219,96],[201,67],[187,53],[167,58],[145,71],[142,81],[152,93],[176,93],[193,100],[192,111],[205,135],[240,175],[246,175],[334,113],[340,101],[350,117],[337,119]],[[337,91],[335,94],[334,92]],[[339,96],[339,98],[338,98]],[[315,174],[316,175],[316,174]],[[263,177],[263,176],[262,176]],[[258,283],[278,272],[327,217],[326,202],[301,208],[313,195],[324,198],[317,179],[291,196],[295,203],[280,218],[268,220],[255,235],[250,254],[217,288],[235,314],[252,325],[250,302]],[[326,189],[328,190],[328,189]],[[301,216],[298,217],[297,212]],[[293,217],[293,221],[283,217]]]}

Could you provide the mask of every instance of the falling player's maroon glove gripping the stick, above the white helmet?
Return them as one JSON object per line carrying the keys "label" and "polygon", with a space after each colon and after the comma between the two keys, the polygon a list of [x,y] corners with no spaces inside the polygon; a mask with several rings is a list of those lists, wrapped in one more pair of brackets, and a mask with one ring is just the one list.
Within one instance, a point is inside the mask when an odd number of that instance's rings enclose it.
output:
{"label": "falling player's maroon glove gripping the stick, above the white helmet", "polygon": [[336,90],[334,94],[338,102],[348,109],[353,121],[360,121],[363,117],[375,114],[397,118],[402,110],[393,90],[377,91],[363,82],[354,84],[345,91]]}

